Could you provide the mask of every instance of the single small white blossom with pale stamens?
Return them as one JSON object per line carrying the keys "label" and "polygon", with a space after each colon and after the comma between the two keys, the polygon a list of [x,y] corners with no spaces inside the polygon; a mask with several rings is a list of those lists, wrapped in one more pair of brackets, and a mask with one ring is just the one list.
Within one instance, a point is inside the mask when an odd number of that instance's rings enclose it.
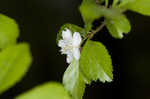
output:
{"label": "single small white blossom with pale stamens", "polygon": [[82,38],[78,32],[72,32],[69,29],[62,31],[62,38],[58,42],[61,47],[61,53],[67,55],[67,63],[71,63],[73,59],[79,60],[80,58],[80,43]]}

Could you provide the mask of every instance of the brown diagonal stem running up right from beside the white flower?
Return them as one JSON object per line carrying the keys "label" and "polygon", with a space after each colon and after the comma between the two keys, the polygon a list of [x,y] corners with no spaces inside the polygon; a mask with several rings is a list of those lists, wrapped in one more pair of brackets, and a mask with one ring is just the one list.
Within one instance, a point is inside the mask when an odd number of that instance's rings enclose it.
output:
{"label": "brown diagonal stem running up right from beside the white flower", "polygon": [[102,30],[104,26],[105,26],[105,24],[104,24],[104,22],[103,22],[96,30],[94,30],[94,31],[92,31],[92,32],[89,32],[88,36],[85,37],[85,38],[82,40],[81,45],[84,43],[85,40],[91,39],[97,32],[99,32],[100,30]]}

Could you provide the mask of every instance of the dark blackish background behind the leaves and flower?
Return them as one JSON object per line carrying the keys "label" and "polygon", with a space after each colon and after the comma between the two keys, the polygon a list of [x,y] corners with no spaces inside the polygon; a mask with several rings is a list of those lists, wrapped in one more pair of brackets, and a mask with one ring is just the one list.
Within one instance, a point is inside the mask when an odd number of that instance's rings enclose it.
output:
{"label": "dark blackish background behind the leaves and flower", "polygon": [[[62,81],[68,64],[55,43],[56,34],[64,23],[83,26],[80,4],[81,0],[0,0],[0,13],[18,22],[18,42],[30,44],[34,60],[22,81],[0,99],[12,99],[47,81]],[[87,86],[84,99],[150,99],[150,17],[126,14],[132,31],[124,39],[112,38],[106,28],[93,39],[109,50],[114,81],[92,83]]]}

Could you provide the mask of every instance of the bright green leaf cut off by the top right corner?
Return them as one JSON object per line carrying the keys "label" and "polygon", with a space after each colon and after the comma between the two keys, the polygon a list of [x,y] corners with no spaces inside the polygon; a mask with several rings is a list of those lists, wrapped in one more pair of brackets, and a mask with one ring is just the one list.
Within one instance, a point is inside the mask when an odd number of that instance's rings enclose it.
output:
{"label": "bright green leaf cut off by the top right corner", "polygon": [[120,7],[150,16],[150,0],[122,0]]}

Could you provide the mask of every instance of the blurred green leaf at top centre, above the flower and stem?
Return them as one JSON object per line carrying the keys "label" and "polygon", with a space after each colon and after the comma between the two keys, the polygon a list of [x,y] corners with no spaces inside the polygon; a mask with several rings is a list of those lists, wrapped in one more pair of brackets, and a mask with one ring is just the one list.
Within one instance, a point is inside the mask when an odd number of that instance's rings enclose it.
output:
{"label": "blurred green leaf at top centre, above the flower and stem", "polygon": [[80,6],[80,12],[85,23],[86,31],[90,31],[92,23],[101,17],[116,17],[120,15],[120,9],[106,8],[96,4],[95,0],[83,0]]}

